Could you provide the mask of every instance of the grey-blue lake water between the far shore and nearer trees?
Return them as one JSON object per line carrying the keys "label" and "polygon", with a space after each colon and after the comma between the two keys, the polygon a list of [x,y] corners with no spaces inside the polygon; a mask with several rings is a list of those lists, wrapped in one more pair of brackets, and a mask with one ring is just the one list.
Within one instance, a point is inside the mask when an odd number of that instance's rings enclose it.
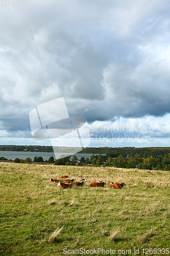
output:
{"label": "grey-blue lake water between the far shore and nearer trees", "polygon": [[[59,156],[61,155],[60,153],[58,153],[58,154],[59,154]],[[81,157],[84,157],[85,159],[86,159],[86,157],[88,157],[90,159],[92,154],[77,153],[74,155],[76,155],[78,159],[80,159]],[[94,155],[99,155],[99,154],[94,154]],[[42,157],[43,160],[45,161],[45,160],[48,160],[52,156],[55,159],[54,153],[48,153],[48,152],[0,151],[0,157],[5,157],[5,158],[11,159],[11,160],[15,160],[15,158],[25,160],[27,157],[30,157],[33,161],[34,157]],[[71,159],[72,159],[72,156],[71,156],[70,160]]]}

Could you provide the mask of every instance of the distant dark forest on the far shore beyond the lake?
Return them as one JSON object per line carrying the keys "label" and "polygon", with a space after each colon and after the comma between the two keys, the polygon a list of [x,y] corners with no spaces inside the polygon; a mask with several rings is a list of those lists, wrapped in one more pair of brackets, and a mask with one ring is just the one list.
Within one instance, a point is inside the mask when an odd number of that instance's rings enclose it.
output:
{"label": "distant dark forest on the far shore beyond the lake", "polygon": [[[64,152],[66,147],[58,147],[59,152]],[[28,152],[53,152],[52,146],[35,146],[35,145],[0,145],[0,151],[28,151]],[[71,152],[71,150],[70,150]],[[126,154],[127,156],[135,156],[141,154],[144,157],[153,156],[164,157],[170,153],[170,147],[86,147],[81,154],[103,154],[107,157],[118,157]]]}

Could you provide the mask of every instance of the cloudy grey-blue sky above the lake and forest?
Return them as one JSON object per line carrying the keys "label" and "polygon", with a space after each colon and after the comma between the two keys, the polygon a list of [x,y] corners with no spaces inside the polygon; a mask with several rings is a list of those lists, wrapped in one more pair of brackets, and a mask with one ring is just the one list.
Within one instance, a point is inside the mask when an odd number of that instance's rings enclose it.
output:
{"label": "cloudy grey-blue sky above the lake and forest", "polygon": [[87,119],[89,146],[170,145],[169,0],[5,3],[1,145],[51,145],[33,138],[29,114],[60,97]]}

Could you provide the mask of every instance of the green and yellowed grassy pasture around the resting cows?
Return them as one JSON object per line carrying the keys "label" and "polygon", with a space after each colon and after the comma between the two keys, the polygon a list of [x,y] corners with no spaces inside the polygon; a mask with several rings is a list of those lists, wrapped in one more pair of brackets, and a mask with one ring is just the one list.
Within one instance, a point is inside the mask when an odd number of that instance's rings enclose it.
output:
{"label": "green and yellowed grassy pasture around the resting cows", "polygon": [[[139,248],[142,255],[170,247],[169,172],[15,163],[0,163],[0,172],[0,255],[82,255],[81,248],[99,248],[88,255],[135,255]],[[68,174],[87,183],[62,190],[50,182]],[[89,186],[99,180],[104,188]],[[123,189],[109,188],[121,181]],[[160,249],[149,254],[170,255]]]}

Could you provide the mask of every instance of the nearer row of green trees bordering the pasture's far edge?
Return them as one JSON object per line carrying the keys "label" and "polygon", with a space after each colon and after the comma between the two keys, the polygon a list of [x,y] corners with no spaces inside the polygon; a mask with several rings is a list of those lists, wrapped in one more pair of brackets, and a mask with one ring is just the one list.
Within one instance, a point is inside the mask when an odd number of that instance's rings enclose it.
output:
{"label": "nearer row of green trees bordering the pasture's far edge", "polygon": [[[145,151],[144,154],[127,155],[126,153],[114,157],[114,154],[107,153],[106,155],[94,155],[92,154],[90,159],[88,157],[78,160],[77,156],[67,156],[61,159],[54,159],[50,157],[48,160],[43,161],[41,156],[34,157],[32,161],[31,158],[26,158],[25,160],[16,158],[13,162],[15,163],[54,163],[55,165],[83,165],[83,164],[93,164],[93,165],[106,165],[114,166],[118,168],[138,168],[138,169],[153,169],[153,170],[170,170],[170,153],[157,155],[152,152]],[[7,158],[0,157],[0,161],[7,161]],[[12,160],[8,160],[12,161]]]}

